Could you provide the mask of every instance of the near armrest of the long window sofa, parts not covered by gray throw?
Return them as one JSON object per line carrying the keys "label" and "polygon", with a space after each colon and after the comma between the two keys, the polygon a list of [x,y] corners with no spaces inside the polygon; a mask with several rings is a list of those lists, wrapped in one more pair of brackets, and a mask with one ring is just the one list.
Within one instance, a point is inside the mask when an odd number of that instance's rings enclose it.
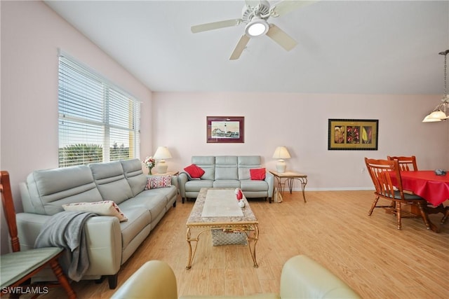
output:
{"label": "near armrest of the long window sofa, parts not covered by gray throw", "polygon": [[[34,242],[43,224],[51,216],[19,213],[16,216],[20,249],[34,248]],[[112,275],[121,265],[121,230],[114,216],[95,216],[86,221],[89,266],[86,275]]]}

